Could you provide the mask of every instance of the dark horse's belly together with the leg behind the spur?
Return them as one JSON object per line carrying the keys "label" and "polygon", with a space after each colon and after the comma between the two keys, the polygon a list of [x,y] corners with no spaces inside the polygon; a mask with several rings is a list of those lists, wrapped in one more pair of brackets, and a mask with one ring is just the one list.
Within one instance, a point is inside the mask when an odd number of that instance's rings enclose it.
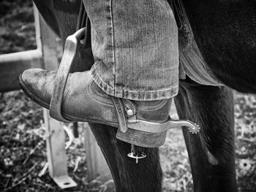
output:
{"label": "dark horse's belly together with the leg behind the spur", "polygon": [[[256,1],[183,3],[200,52],[215,76],[237,91],[256,93]],[[186,80],[175,101],[180,118],[203,128],[199,138],[184,130],[194,190],[237,191],[232,91]]]}

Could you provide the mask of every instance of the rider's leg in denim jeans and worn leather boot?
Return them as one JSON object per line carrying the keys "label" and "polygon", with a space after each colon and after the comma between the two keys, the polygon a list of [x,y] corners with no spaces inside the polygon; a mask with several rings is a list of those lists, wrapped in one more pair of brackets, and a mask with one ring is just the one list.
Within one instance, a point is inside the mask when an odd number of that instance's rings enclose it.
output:
{"label": "rider's leg in denim jeans and worn leather boot", "polygon": [[[178,31],[167,1],[86,0],[84,4],[95,63],[91,72],[69,74],[62,101],[64,118],[118,126],[120,117],[112,99],[122,98],[136,118],[165,122],[171,99],[178,93]],[[31,99],[49,107],[55,77],[56,72],[30,69],[21,74],[20,84]]]}

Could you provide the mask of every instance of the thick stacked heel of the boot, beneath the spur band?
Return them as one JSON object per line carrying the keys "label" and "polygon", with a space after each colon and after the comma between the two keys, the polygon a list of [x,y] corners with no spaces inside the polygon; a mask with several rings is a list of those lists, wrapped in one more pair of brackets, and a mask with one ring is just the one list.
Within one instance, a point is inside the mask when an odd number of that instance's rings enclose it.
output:
{"label": "thick stacked heel of the boot, beneath the spur band", "polygon": [[122,133],[119,129],[116,138],[140,147],[160,147],[164,145],[167,131],[162,133],[148,133],[128,128],[127,132]]}

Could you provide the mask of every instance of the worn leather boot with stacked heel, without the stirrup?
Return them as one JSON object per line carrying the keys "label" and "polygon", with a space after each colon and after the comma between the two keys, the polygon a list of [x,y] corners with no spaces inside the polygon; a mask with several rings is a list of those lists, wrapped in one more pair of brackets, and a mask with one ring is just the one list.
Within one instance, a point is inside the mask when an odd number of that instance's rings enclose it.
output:
{"label": "worn leather boot with stacked heel, without the stirrup", "polygon": [[[20,74],[19,82],[30,99],[50,109],[51,97],[55,91],[55,79],[56,71],[28,69]],[[160,123],[166,123],[169,120],[171,101],[172,99],[157,101],[118,99],[102,91],[92,80],[91,72],[75,72],[69,74],[60,101],[64,120],[58,118],[57,120],[115,126],[118,128],[116,137],[124,142],[142,147],[159,147],[165,142],[167,128],[156,133],[147,132],[147,126],[143,123],[153,123],[150,124],[151,129]],[[141,130],[135,130],[134,127],[139,121],[142,123]]]}

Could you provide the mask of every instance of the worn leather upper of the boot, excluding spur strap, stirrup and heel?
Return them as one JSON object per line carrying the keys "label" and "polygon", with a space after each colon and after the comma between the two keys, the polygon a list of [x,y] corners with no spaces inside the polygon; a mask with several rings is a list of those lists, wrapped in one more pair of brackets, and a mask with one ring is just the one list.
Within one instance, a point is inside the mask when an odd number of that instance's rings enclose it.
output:
{"label": "worn leather upper of the boot, excluding spur strap, stirrup and heel", "polygon": [[[20,87],[37,104],[49,109],[55,77],[56,71],[28,69],[20,74]],[[136,118],[157,123],[167,120],[172,101],[121,100],[124,109],[135,112]],[[102,123],[118,127],[118,116],[111,96],[98,87],[89,71],[69,74],[61,112],[69,121]]]}

